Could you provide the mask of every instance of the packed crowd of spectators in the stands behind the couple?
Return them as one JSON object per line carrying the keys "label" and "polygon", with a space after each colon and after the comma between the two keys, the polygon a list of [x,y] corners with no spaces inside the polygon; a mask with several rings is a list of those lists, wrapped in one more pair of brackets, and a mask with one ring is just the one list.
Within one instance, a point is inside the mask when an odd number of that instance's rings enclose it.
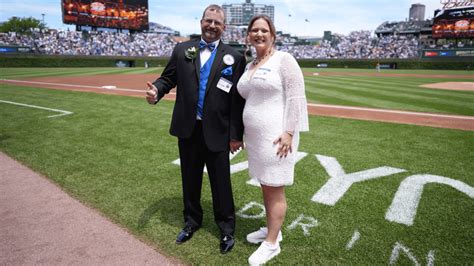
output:
{"label": "packed crowd of spectators in the stands behind the couple", "polygon": [[[229,27],[225,42],[245,44],[245,29]],[[33,32],[31,35],[0,34],[0,45],[30,47],[48,55],[170,56],[178,38],[162,33],[118,33],[111,31]],[[277,49],[296,58],[411,58],[419,55],[418,38],[412,35],[377,37],[370,31],[334,34],[332,40],[299,45],[298,39],[279,34]]]}

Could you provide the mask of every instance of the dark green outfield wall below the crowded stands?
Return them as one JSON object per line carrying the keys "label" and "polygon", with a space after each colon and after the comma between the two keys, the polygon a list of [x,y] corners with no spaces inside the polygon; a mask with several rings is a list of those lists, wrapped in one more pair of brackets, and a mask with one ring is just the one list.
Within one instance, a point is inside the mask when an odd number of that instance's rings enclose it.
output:
{"label": "dark green outfield wall below the crowded stands", "polygon": [[[0,55],[0,67],[148,67],[165,66],[165,57]],[[472,58],[300,59],[301,67],[474,70]]]}

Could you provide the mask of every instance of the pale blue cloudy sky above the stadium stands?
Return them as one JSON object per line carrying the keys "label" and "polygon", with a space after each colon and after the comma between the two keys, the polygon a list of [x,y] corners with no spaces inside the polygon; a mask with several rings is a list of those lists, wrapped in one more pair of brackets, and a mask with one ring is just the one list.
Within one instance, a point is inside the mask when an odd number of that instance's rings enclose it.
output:
{"label": "pale blue cloudy sky above the stadium stands", "polygon": [[[169,26],[182,35],[199,33],[199,19],[209,4],[242,3],[244,0],[185,1],[149,0],[149,21]],[[371,30],[384,21],[403,21],[412,4],[426,6],[425,18],[440,9],[439,0],[253,0],[256,4],[275,6],[277,30],[297,36],[322,36],[325,30],[348,34],[354,30]],[[0,21],[12,16],[35,17],[56,29],[74,29],[62,23],[60,0],[0,0]],[[288,15],[291,14],[291,17]],[[305,22],[307,19],[309,22]]]}

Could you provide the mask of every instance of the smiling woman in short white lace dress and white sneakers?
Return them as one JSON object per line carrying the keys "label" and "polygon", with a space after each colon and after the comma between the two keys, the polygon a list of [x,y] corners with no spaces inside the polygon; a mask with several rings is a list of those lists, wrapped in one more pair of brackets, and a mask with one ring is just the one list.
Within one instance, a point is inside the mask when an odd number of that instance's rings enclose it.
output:
{"label": "smiling woman in short white lace dress and white sneakers", "polygon": [[247,28],[256,58],[247,65],[237,89],[245,98],[244,143],[249,175],[261,184],[267,227],[247,235],[260,247],[250,264],[263,264],[281,251],[281,227],[286,213],[285,186],[293,184],[299,132],[308,131],[304,79],[296,60],[275,50],[275,26],[257,15]]}

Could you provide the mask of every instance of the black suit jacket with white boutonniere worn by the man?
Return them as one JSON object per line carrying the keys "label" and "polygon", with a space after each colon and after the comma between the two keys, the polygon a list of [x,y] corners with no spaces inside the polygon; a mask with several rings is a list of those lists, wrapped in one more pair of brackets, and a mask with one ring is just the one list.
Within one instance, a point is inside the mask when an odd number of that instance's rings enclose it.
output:
{"label": "black suit jacket with white boutonniere worn by the man", "polygon": [[[170,134],[178,138],[189,138],[196,123],[200,76],[199,39],[179,43],[161,76],[153,82],[158,89],[158,100],[176,86],[176,102],[171,120]],[[196,47],[196,58],[188,59],[186,50]],[[237,92],[237,82],[244,72],[245,57],[232,47],[219,42],[207,82],[203,108],[203,134],[207,147],[212,151],[229,149],[230,139],[242,140],[242,111],[244,99]],[[229,93],[217,88],[221,71],[228,67],[223,62],[225,55],[234,58],[232,75],[224,76],[232,82]]]}

